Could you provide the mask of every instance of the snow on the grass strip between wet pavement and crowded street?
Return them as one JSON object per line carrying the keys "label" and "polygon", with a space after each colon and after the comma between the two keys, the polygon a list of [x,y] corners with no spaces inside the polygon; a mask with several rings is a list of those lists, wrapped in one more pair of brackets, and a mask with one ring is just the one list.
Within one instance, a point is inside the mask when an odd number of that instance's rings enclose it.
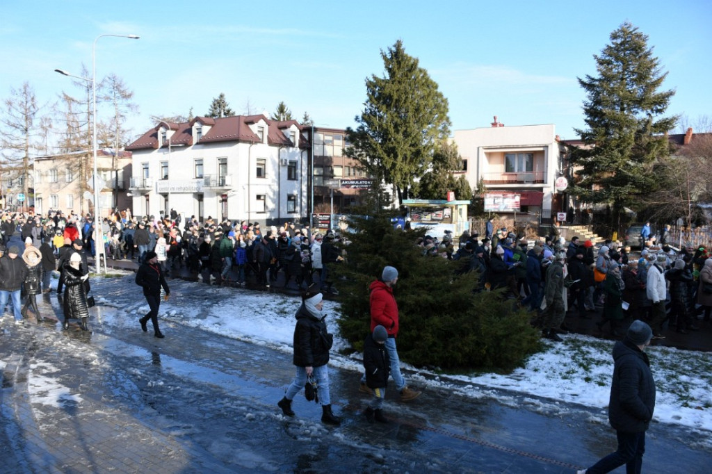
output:
{"label": "snow on the grass strip between wet pavement and crowded street", "polygon": [[[283,352],[292,351],[294,314],[300,304],[298,297],[244,289],[226,290],[179,280],[172,280],[170,284],[172,294],[167,302],[162,302],[160,318]],[[103,317],[115,318],[113,323],[117,325],[133,327],[137,324],[135,317],[148,312],[145,300],[137,298],[135,301],[134,305],[122,310],[105,310]],[[112,301],[112,297],[98,298],[98,304],[122,306],[120,302]],[[348,353],[350,345],[338,333],[335,322],[339,314],[338,303],[325,300],[324,312],[328,315],[329,330],[335,336],[330,364],[360,372],[360,354],[339,354]],[[544,352],[534,354],[524,367],[506,375],[435,374],[407,364],[404,366],[414,372],[409,379],[416,384],[456,389],[467,396],[488,396],[496,389],[506,389],[515,394],[548,399],[551,404],[562,401],[607,408],[614,343],[584,335],[565,335],[563,338],[565,341],[559,344],[545,342]],[[712,443],[712,354],[669,347],[648,347],[646,352],[657,386],[654,420],[708,431],[710,433],[702,433],[702,436]],[[506,402],[506,395],[497,396]],[[544,402],[528,399],[527,403]]]}

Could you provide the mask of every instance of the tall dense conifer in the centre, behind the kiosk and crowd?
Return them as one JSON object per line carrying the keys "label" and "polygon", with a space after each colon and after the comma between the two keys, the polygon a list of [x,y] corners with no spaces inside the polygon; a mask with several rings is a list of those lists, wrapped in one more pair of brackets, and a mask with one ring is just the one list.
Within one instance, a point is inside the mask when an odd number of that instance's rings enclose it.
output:
{"label": "tall dense conifer in the centre, behind the kiosk and crowd", "polygon": [[438,142],[449,135],[448,102],[402,41],[381,51],[385,75],[366,80],[365,110],[347,129],[346,150],[366,172],[395,186],[399,204],[408,199],[415,177],[422,177]]}

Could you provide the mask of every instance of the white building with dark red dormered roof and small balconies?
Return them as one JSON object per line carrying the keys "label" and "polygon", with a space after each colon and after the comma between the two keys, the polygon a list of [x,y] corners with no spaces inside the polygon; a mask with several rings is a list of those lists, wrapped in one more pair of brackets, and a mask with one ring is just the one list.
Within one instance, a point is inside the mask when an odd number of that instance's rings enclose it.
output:
{"label": "white building with dark red dormered roof and small balconies", "polygon": [[309,130],[265,115],[159,124],[133,153],[133,212],[283,223],[308,218]]}

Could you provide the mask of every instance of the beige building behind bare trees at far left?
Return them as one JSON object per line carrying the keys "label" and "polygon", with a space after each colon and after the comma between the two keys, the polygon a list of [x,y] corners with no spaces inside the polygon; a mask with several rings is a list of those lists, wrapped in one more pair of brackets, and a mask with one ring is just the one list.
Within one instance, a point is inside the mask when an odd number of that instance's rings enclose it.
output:
{"label": "beige building behind bare trees at far left", "polygon": [[[131,153],[100,149],[97,151],[98,183],[101,216],[114,209],[126,209],[131,202],[127,196],[127,179],[131,176]],[[33,164],[32,203],[35,212],[74,211],[76,214],[95,214],[93,154],[73,152],[36,157]]]}

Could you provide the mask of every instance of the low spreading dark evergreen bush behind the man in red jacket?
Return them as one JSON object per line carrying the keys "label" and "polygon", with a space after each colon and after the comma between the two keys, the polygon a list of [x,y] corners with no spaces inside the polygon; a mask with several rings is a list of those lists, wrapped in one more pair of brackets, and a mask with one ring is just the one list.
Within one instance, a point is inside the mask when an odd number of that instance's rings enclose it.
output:
{"label": "low spreading dark evergreen bush behind the man in red jacket", "polygon": [[347,258],[334,265],[340,278],[340,334],[362,351],[370,331],[369,286],[385,265],[398,269],[394,288],[399,317],[398,354],[418,367],[502,369],[520,366],[540,348],[529,315],[501,292],[475,293],[477,273],[454,275],[463,260],[423,256],[414,245],[424,229],[395,229],[384,214],[354,218]]}

